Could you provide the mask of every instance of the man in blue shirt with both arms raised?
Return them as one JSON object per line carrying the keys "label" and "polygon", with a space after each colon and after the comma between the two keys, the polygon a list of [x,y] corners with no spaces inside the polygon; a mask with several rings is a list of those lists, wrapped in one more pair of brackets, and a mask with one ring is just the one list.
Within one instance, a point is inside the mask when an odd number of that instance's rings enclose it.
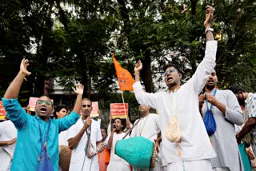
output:
{"label": "man in blue shirt with both arms raised", "polygon": [[[78,121],[83,85],[78,84],[74,89],[74,92],[77,93],[77,99],[74,109],[69,116],[52,120],[50,115],[53,113],[53,103],[47,96],[39,97],[35,106],[36,116],[31,116],[22,109],[17,99],[22,82],[27,75],[31,74],[26,70],[27,66],[29,66],[29,61],[23,59],[18,75],[11,82],[2,98],[7,117],[10,118],[10,121],[18,129],[18,138],[11,170],[37,170],[42,141],[45,142],[44,146],[50,157],[50,164],[54,170],[58,170],[58,133],[69,129],[71,125]],[[46,141],[47,132],[48,141]]]}

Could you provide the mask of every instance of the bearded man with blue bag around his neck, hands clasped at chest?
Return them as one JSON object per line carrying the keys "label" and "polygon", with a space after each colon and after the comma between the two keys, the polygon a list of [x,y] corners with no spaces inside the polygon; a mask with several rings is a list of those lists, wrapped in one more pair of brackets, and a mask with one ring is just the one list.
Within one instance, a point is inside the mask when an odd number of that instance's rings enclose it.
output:
{"label": "bearded man with blue bag around his neck, hands clasped at chest", "polygon": [[242,125],[243,115],[234,93],[228,89],[216,89],[218,78],[215,70],[208,76],[205,94],[199,96],[202,103],[202,117],[207,108],[213,113],[217,129],[210,135],[211,143],[217,157],[211,159],[214,170],[241,171],[242,158],[239,156],[238,143],[235,138],[235,125]]}

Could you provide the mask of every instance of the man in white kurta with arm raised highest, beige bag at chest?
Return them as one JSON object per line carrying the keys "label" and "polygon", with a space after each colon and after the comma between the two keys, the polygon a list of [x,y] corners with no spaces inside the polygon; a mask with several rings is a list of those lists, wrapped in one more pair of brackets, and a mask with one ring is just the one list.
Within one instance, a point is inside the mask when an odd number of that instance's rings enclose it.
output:
{"label": "man in white kurta with arm raised highest, beige bag at chest", "polygon": [[[139,82],[139,72],[142,63],[138,62],[134,68],[135,97],[141,105],[149,105],[157,109],[159,113],[160,129],[162,133],[162,155],[166,159],[166,170],[182,171],[212,170],[210,158],[216,157],[210,139],[206,133],[202,117],[198,109],[198,94],[206,83],[206,78],[215,66],[217,42],[214,41],[210,21],[213,18],[214,9],[206,6],[206,52],[202,62],[198,65],[193,77],[184,85],[180,85],[182,78],[178,67],[170,65],[166,67],[165,82],[168,92],[146,93]],[[174,114],[178,117],[181,129],[181,141],[170,142],[166,138],[166,128],[170,117]],[[181,152],[181,153],[180,153]]]}

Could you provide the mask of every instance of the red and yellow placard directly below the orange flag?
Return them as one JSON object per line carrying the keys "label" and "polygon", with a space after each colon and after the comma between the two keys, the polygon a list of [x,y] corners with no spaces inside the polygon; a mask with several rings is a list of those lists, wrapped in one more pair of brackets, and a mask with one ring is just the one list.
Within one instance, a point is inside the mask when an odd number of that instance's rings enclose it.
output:
{"label": "red and yellow placard directly below the orange flag", "polygon": [[112,118],[126,118],[128,116],[128,103],[110,103],[110,116]]}

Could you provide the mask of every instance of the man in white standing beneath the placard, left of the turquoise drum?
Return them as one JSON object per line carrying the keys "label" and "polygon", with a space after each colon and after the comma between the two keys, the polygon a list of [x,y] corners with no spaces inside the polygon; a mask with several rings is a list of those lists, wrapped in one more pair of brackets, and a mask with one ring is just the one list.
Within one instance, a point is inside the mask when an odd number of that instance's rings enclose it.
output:
{"label": "man in white standing beneath the placard, left of the turquoise drum", "polygon": [[122,138],[126,135],[126,133],[122,132],[122,128],[122,120],[118,117],[114,118],[114,125],[111,133],[108,137],[106,137],[107,148],[111,149],[110,164],[107,166],[107,171],[130,171],[129,163],[114,153],[117,141],[122,140]]}

